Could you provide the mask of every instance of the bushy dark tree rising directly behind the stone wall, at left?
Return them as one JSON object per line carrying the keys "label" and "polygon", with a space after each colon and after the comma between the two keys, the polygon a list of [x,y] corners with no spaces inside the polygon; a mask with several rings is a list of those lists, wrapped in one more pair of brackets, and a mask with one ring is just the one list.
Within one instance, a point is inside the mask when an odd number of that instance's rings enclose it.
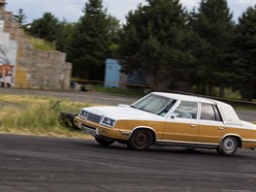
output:
{"label": "bushy dark tree rising directly behind the stone wall, at left", "polygon": [[58,29],[58,18],[50,13],[45,13],[42,18],[33,20],[28,32],[34,37],[52,42],[56,40]]}

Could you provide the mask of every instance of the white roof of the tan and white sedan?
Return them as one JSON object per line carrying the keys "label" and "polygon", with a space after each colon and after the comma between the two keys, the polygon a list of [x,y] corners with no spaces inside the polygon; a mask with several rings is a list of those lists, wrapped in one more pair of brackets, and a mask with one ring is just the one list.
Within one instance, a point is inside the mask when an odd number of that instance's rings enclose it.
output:
{"label": "white roof of the tan and white sedan", "polygon": [[200,102],[200,103],[213,104],[213,105],[216,105],[218,103],[218,101],[215,101],[212,99],[192,96],[192,95],[183,95],[183,94],[166,93],[166,92],[152,92],[152,94],[160,95],[163,97],[168,97],[176,100],[181,100],[181,101]]}

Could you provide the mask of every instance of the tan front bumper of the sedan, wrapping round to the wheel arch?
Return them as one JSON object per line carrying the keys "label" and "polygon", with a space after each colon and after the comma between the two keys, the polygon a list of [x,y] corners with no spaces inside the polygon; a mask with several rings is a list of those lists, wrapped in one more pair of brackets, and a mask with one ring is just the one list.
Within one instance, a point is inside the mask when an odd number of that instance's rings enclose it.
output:
{"label": "tan front bumper of the sedan, wrapping round to the wheel arch", "polygon": [[130,131],[106,127],[80,118],[79,116],[75,117],[74,123],[83,130],[85,134],[92,135],[93,137],[105,137],[113,140],[128,141],[131,135]]}

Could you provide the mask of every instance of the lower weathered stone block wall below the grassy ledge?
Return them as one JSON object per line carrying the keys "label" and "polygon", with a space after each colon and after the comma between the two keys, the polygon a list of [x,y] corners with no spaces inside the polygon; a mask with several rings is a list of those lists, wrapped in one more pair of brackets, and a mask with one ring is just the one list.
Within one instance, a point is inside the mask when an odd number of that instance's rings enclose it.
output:
{"label": "lower weathered stone block wall below the grassy ledge", "polygon": [[[25,72],[28,88],[68,89],[71,64],[66,63],[66,55],[58,51],[31,50],[26,59],[19,62],[19,72]],[[21,76],[20,76],[21,75]],[[16,81],[22,73],[16,75]],[[19,84],[22,86],[22,84]]]}

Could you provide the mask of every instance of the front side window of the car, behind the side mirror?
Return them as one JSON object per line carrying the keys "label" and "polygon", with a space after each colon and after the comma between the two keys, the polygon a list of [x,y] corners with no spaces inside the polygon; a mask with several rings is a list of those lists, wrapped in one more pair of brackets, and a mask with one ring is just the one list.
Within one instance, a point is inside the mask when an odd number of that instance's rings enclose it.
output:
{"label": "front side window of the car, behind the side mirror", "polygon": [[197,118],[198,112],[198,104],[195,102],[187,102],[181,101],[181,103],[177,106],[175,113],[177,113],[176,117],[180,118]]}

